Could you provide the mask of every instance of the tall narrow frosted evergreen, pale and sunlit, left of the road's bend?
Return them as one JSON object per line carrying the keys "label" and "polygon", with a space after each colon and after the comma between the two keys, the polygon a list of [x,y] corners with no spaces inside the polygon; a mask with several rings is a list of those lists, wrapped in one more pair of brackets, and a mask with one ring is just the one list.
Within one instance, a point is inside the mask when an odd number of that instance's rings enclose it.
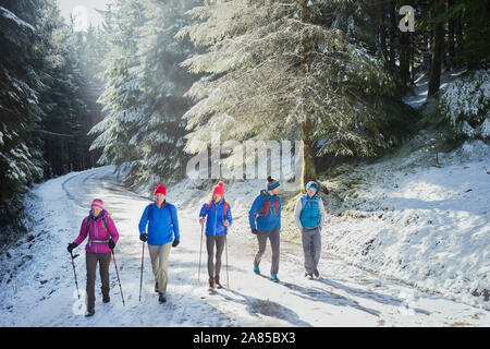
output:
{"label": "tall narrow frosted evergreen, pale and sunlit, left of the road's bend", "polygon": [[143,125],[145,105],[142,99],[143,71],[137,51],[139,31],[145,22],[140,1],[123,0],[105,12],[106,40],[109,51],[103,61],[103,93],[98,99],[107,115],[91,130],[99,134],[90,151],[101,148],[101,165],[121,166],[140,158],[140,149],[131,140]]}

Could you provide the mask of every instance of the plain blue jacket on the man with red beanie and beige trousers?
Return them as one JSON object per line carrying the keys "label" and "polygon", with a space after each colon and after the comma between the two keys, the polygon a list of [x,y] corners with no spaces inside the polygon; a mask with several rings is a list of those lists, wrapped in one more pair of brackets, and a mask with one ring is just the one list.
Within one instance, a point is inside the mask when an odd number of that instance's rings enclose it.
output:
{"label": "plain blue jacket on the man with red beanie and beige trousers", "polygon": [[[149,208],[151,207],[151,216]],[[162,245],[175,240],[181,240],[179,234],[179,219],[174,205],[164,202],[161,208],[156,203],[146,206],[139,219],[139,233],[146,232],[148,225],[148,244]]]}

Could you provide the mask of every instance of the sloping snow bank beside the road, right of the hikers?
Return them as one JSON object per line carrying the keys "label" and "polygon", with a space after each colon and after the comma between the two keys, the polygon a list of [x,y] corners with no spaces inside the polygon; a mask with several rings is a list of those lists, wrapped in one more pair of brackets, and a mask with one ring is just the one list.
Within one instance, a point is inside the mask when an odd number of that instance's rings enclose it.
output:
{"label": "sloping snow bank beside the road, right of the hikers", "polygon": [[330,212],[323,246],[355,265],[490,309],[490,147],[467,142],[437,160],[433,149],[402,153],[324,182],[332,194],[323,200]]}

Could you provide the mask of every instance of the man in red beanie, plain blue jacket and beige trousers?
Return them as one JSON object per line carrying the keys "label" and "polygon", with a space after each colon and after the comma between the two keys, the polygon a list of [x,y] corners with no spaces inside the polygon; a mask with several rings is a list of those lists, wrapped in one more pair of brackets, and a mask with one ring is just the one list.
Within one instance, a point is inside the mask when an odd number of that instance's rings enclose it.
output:
{"label": "man in red beanie, plain blue jacket and beige trousers", "polygon": [[[170,248],[180,242],[176,208],[166,202],[167,189],[162,184],[155,186],[155,203],[146,206],[139,220],[139,240],[148,242],[151,268],[155,276],[155,290],[160,303],[167,301],[167,282],[169,280],[168,262]],[[148,232],[146,227],[148,225]]]}

